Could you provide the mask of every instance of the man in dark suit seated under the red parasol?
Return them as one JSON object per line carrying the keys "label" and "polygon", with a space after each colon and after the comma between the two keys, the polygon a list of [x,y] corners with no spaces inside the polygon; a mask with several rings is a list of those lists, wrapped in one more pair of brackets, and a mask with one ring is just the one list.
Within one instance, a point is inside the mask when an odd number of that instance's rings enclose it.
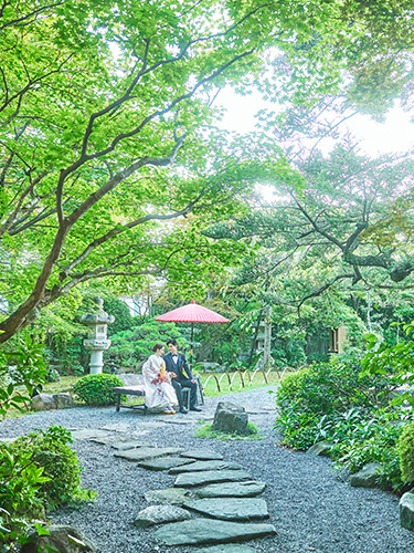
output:
{"label": "man in dark suit seated under the red parasol", "polygon": [[167,347],[169,353],[163,356],[163,361],[166,362],[166,369],[170,373],[171,376],[171,384],[177,394],[180,413],[188,413],[182,400],[182,388],[190,388],[190,410],[201,411],[201,409],[195,406],[197,383],[192,377],[191,369],[185,359],[185,355],[182,353],[178,353],[177,340],[169,340],[167,342]]}

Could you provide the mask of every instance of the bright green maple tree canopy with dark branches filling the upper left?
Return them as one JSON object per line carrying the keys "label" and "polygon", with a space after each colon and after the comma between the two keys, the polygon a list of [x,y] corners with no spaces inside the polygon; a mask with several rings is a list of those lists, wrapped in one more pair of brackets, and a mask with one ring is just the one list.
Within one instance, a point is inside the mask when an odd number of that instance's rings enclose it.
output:
{"label": "bright green maple tree canopy with dark branches filling the upper left", "polygon": [[[389,73],[399,83],[408,8],[395,4],[396,22],[385,18],[381,48],[374,41],[381,60],[395,54]],[[265,135],[230,138],[215,127],[220,91],[255,83],[269,92],[276,51],[296,63],[284,87],[297,104],[337,90],[347,64],[357,66],[355,44],[358,67],[365,59],[372,74],[362,38],[373,11],[319,0],[0,1],[0,295],[9,306],[0,343],[91,279],[188,282],[191,273],[200,282],[201,268],[205,275],[229,260],[225,248],[208,255],[198,231],[243,212],[243,195],[280,174],[284,157]],[[406,30],[397,52],[393,21]],[[320,71],[309,79],[312,65]]]}

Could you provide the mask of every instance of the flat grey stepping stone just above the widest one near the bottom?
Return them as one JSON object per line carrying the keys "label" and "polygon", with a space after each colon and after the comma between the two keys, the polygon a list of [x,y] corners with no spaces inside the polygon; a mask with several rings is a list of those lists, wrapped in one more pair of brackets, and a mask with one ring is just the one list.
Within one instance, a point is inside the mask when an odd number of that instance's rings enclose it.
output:
{"label": "flat grey stepping stone just above the widest one near the bottom", "polygon": [[208,498],[188,501],[182,505],[189,511],[220,520],[247,522],[268,519],[267,503],[256,498]]}

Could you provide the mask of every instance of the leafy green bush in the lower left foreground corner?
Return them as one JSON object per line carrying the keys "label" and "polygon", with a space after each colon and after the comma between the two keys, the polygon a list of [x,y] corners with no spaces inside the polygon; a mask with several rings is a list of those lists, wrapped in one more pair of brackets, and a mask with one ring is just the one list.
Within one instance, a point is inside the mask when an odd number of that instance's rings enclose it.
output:
{"label": "leafy green bush in the lower left foreground corner", "polygon": [[23,543],[32,520],[45,518],[44,507],[96,495],[81,488],[81,467],[70,441],[67,430],[50,427],[0,445],[0,541],[7,546]]}

